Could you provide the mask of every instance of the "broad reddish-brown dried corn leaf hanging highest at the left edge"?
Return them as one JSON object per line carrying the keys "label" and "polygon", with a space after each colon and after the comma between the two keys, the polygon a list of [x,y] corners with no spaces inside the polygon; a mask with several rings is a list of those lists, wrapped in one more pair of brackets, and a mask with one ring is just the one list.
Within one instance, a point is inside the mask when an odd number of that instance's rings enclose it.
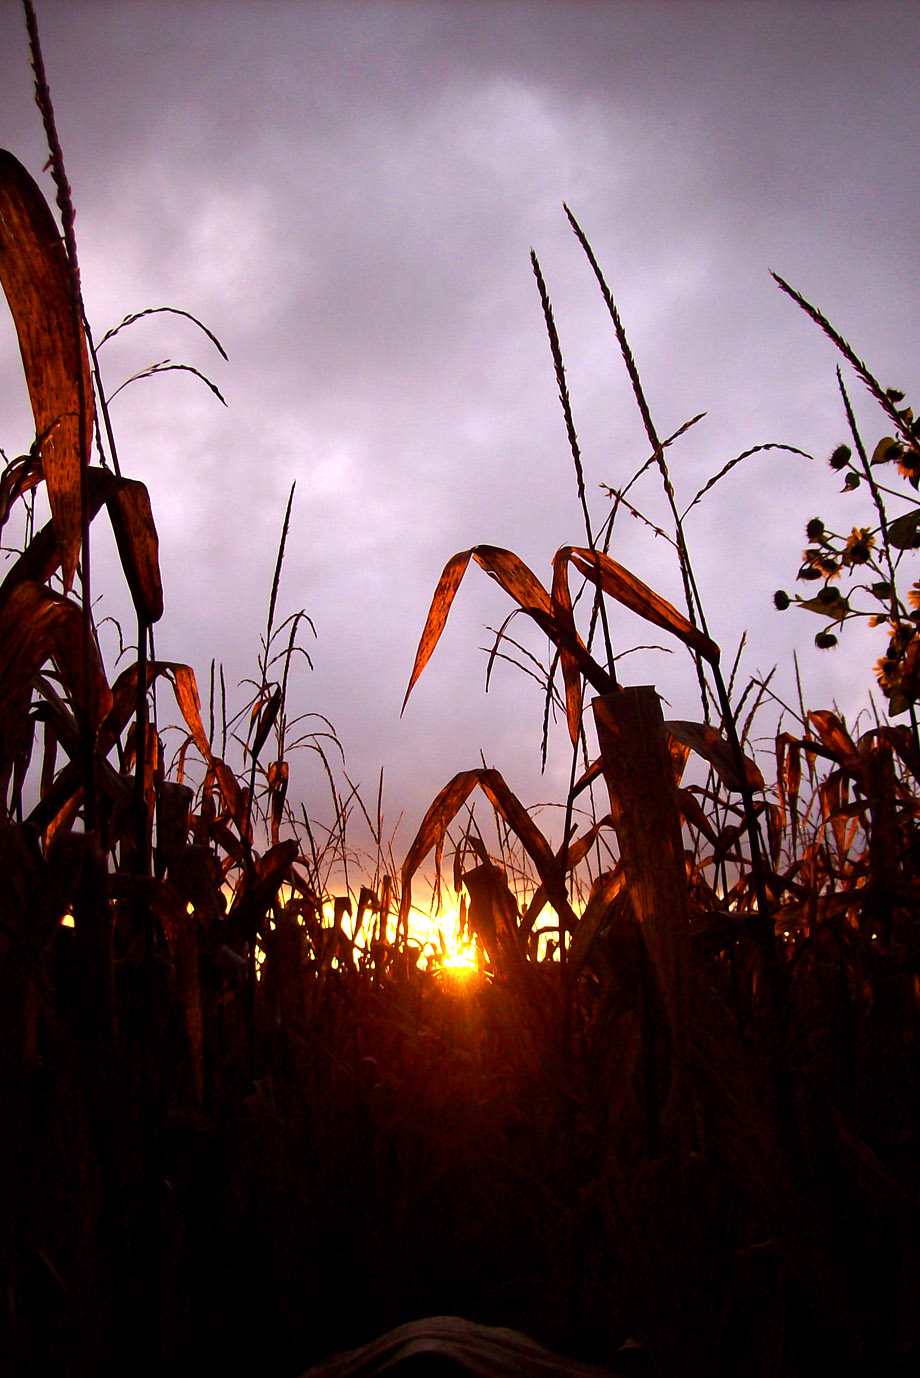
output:
{"label": "broad reddish-brown dried corn leaf hanging highest at the left edge", "polygon": [[0,281],[17,327],[36,434],[44,437],[41,462],[69,590],[80,554],[80,473],[92,442],[90,362],[54,215],[22,164],[1,149]]}

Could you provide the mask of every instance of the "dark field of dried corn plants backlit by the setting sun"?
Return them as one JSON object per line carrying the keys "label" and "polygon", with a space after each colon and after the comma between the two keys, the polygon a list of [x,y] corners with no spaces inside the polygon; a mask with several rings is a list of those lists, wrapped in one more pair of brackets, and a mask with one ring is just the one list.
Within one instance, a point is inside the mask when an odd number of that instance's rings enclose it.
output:
{"label": "dark field of dried corn plants backlit by the setting sun", "polygon": [[[380,802],[375,819],[333,780],[332,725],[288,718],[309,624],[275,606],[291,503],[249,701],[230,712],[212,667],[202,707],[194,668],[157,652],[154,514],[120,469],[25,10],[59,222],[0,152],[0,278],[36,423],[0,475],[4,550],[18,542],[0,582],[3,1371],[293,1378],[441,1317],[435,1356],[479,1372],[530,1371],[530,1341],[661,1378],[914,1372],[920,583],[902,597],[898,576],[920,504],[890,482],[916,491],[920,426],[903,398],[780,282],[890,431],[864,444],[841,371],[850,441],[830,467],[868,522],[810,522],[808,597],[777,593],[822,619],[819,645],[857,616],[886,628],[888,715],[857,732],[781,704],[769,677],[726,677],[668,467],[680,433],[657,431],[566,208],[647,433],[640,474],[664,485],[686,608],[610,554],[632,485],[602,522],[589,511],[534,255],[584,539],[547,584],[508,550],[453,555],[406,700],[478,565],[550,648],[525,668],[545,730],[558,715],[572,744],[565,841],[499,770],[471,766],[399,867]],[[112,524],[136,621],[117,675],[94,620],[95,521]],[[683,648],[701,721],[665,721],[653,688],[620,681],[613,604]],[[499,655],[523,655],[507,624]],[[332,783],[325,828],[288,798],[304,744]],[[366,864],[347,841],[355,810],[376,842]],[[412,938],[412,883],[428,865],[441,883],[445,849],[467,973]],[[355,883],[333,893],[343,861]],[[529,1339],[485,1353],[482,1326]],[[372,1348],[361,1371],[390,1353]]]}

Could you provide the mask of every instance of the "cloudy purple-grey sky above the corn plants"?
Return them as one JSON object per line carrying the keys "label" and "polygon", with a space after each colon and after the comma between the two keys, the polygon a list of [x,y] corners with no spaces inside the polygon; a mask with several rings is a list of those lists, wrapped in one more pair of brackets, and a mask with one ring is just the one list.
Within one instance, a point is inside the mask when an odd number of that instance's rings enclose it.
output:
{"label": "cloudy purple-grey sky above the corn plants", "polygon": [[[844,438],[833,347],[780,294],[815,302],[886,386],[917,375],[920,10],[909,3],[191,3],[37,0],[45,66],[77,207],[109,391],[169,358],[205,372],[132,383],[112,415],[123,471],[157,517],[164,657],[237,683],[256,672],[288,491],[296,481],[278,610],[315,624],[292,711],[329,718],[372,805],[380,768],[405,850],[424,808],[482,752],[527,803],[561,799],[565,728],[540,776],[543,701],[486,656],[510,604],[471,568],[443,641],[399,707],[428,601],[453,553],[504,546],[550,580],[583,540],[572,460],[529,251],[554,302],[599,525],[602,484],[624,484],[647,441],[591,270],[584,226],[638,358],[679,499],[746,460],[687,524],[709,628],[746,674],[797,644],[813,707],[851,711],[883,646],[773,609],[792,587],[804,522],[868,522],[826,467]],[[0,11],[1,142],[52,198],[32,101],[25,25]],[[6,318],[4,318],[6,317]],[[870,444],[884,426],[854,380]],[[0,445],[32,440],[6,309]],[[634,496],[664,520],[657,480]],[[836,520],[836,518],[835,518]],[[124,612],[99,536],[101,616]],[[632,518],[611,553],[679,604],[675,562]],[[617,650],[662,639],[614,615]],[[515,635],[523,634],[519,620]],[[527,645],[541,653],[540,639]],[[686,653],[627,657],[672,717],[698,715]],[[763,732],[775,711],[763,715]],[[342,781],[344,784],[344,781]],[[310,752],[292,792],[328,817]],[[552,831],[550,816],[545,825]],[[359,843],[359,838],[355,838]]]}

